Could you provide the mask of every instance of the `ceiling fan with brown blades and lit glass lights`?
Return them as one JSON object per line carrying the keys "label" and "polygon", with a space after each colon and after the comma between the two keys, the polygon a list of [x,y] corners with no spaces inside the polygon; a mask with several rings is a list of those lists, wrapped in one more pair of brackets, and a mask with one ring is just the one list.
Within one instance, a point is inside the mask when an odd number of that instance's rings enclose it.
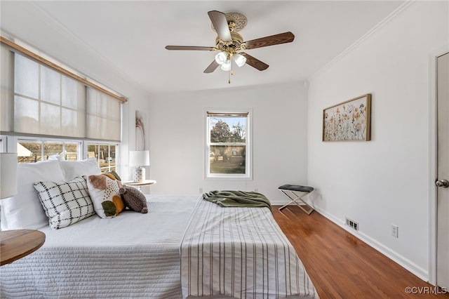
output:
{"label": "ceiling fan with brown blades and lit glass lights", "polygon": [[[232,62],[239,67],[250,65],[255,69],[263,71],[269,65],[249,55],[246,50],[291,43],[295,35],[291,32],[265,36],[260,39],[243,41],[238,32],[247,24],[246,16],[241,13],[221,13],[220,11],[208,12],[212,29],[217,32],[215,47],[208,46],[166,46],[167,50],[192,50],[192,51],[220,51],[215,55],[215,60],[206,69],[205,73],[211,73],[220,65],[221,69],[232,74]],[[229,79],[229,83],[231,83]]]}

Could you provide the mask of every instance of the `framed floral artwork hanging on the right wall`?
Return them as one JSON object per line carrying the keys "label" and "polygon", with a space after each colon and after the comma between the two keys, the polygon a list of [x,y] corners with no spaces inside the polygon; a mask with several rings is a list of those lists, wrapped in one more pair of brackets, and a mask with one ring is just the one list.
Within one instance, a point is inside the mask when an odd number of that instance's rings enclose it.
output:
{"label": "framed floral artwork hanging on the right wall", "polygon": [[371,94],[323,110],[323,141],[370,140]]}

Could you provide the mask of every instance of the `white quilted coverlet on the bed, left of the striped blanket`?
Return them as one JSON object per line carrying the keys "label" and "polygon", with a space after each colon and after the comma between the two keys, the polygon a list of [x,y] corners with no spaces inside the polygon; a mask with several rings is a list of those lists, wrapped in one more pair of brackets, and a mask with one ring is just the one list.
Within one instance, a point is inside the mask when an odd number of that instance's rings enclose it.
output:
{"label": "white quilted coverlet on the bed, left of the striped blanket", "polygon": [[180,240],[198,196],[150,196],[149,213],[94,215],[1,267],[0,298],[181,298]]}

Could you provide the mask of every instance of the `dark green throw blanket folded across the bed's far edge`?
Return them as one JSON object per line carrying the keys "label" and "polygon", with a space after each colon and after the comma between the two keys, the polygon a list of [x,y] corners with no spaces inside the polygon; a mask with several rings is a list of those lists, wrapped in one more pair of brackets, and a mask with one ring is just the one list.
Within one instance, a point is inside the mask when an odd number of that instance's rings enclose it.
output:
{"label": "dark green throw blanket folded across the bed's far edge", "polygon": [[246,207],[263,208],[267,207],[272,211],[272,205],[264,194],[257,192],[243,191],[211,191],[203,194],[203,199],[212,201],[222,207]]}

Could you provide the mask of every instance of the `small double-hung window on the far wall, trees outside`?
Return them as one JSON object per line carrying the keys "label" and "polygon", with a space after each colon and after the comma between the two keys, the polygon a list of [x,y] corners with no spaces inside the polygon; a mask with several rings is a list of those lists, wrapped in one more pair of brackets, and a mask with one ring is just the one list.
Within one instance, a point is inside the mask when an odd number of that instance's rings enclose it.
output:
{"label": "small double-hung window on the far wall, trees outside", "polygon": [[250,178],[249,132],[249,112],[207,112],[208,178]]}

